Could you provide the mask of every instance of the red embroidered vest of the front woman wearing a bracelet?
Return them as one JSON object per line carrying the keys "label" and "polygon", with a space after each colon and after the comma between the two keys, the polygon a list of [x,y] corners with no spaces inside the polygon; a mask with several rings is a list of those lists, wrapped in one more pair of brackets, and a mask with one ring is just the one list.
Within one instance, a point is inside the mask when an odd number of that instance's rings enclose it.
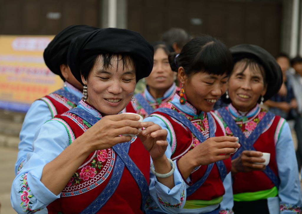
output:
{"label": "red embroidered vest of the front woman wearing a bracelet", "polygon": [[[71,113],[57,115],[53,120],[65,123],[70,142],[72,138],[79,137],[89,128],[85,120]],[[128,154],[149,181],[149,153],[139,138],[131,143]],[[117,154],[111,148],[92,152],[71,177],[62,191],[61,197],[47,206],[48,213],[74,214],[85,209],[109,182],[116,157]],[[140,209],[141,200],[140,189],[125,166],[116,191],[97,213],[143,213]]]}

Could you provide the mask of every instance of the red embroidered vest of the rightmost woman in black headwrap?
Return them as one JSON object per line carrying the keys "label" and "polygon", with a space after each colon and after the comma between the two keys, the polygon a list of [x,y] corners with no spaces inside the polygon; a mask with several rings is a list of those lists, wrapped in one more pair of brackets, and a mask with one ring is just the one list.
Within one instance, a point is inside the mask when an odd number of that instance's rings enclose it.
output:
{"label": "red embroidered vest of the rightmost woman in black headwrap", "polygon": [[[265,110],[261,110],[257,117],[255,117],[255,121],[259,123],[259,121],[262,120],[264,115],[266,114]],[[219,117],[221,117],[218,114]],[[242,125],[241,129],[245,130],[252,129],[252,127],[255,128],[256,122],[254,120],[251,120],[250,122],[247,122]],[[278,166],[276,162],[276,149],[275,149],[275,142],[277,142],[278,139],[278,133],[280,131],[280,125],[283,123],[280,123],[280,121],[284,119],[281,118],[278,115],[275,115],[271,123],[268,124],[268,127],[266,127],[266,130],[264,133],[262,133],[259,138],[254,143],[254,148],[256,151],[260,152],[267,152],[271,153],[270,161],[268,166],[273,170],[273,172],[278,176]],[[233,136],[233,133],[225,125],[226,135]],[[252,171],[252,172],[240,172],[236,173],[233,177],[233,194],[238,193],[246,193],[246,192],[257,192],[261,190],[271,189],[275,185],[271,181],[271,179],[268,178],[268,176],[262,172],[262,171]]]}

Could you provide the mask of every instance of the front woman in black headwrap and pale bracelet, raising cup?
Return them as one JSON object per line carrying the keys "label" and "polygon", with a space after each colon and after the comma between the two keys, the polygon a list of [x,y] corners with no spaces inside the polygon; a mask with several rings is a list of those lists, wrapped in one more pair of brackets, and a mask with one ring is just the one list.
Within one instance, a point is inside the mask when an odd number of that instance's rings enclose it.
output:
{"label": "front woman in black headwrap and pale bracelet, raising cup", "polygon": [[14,209],[143,213],[152,178],[148,200],[177,213],[185,187],[165,156],[166,130],[138,121],[139,115],[118,114],[136,82],[150,74],[152,46],[137,32],[104,28],[73,39],[67,60],[83,98],[37,131],[34,151],[12,185]]}

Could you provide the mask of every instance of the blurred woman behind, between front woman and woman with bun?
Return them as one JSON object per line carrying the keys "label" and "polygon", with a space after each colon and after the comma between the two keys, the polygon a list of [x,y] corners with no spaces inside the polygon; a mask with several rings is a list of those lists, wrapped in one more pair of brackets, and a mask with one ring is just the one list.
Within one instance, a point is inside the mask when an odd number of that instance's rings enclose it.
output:
{"label": "blurred woman behind, between front woman and woman with bun", "polygon": [[153,45],[154,62],[151,74],[145,77],[146,88],[143,93],[135,95],[135,99],[126,107],[126,112],[148,117],[155,109],[173,99],[179,88],[175,84],[176,72],[171,70],[168,55],[170,51],[163,42]]}

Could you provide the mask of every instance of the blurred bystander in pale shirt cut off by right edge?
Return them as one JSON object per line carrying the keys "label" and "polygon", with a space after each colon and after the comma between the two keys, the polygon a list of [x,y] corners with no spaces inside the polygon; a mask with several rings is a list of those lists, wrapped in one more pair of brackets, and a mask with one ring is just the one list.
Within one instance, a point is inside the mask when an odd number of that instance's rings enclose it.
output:
{"label": "blurred bystander in pale shirt cut off by right edge", "polygon": [[296,112],[294,115],[295,126],[294,129],[297,134],[298,148],[296,151],[298,168],[301,170],[302,166],[302,58],[297,56],[291,60],[291,67],[294,68],[295,74],[288,75],[288,81],[292,85],[294,96],[297,102]]}

